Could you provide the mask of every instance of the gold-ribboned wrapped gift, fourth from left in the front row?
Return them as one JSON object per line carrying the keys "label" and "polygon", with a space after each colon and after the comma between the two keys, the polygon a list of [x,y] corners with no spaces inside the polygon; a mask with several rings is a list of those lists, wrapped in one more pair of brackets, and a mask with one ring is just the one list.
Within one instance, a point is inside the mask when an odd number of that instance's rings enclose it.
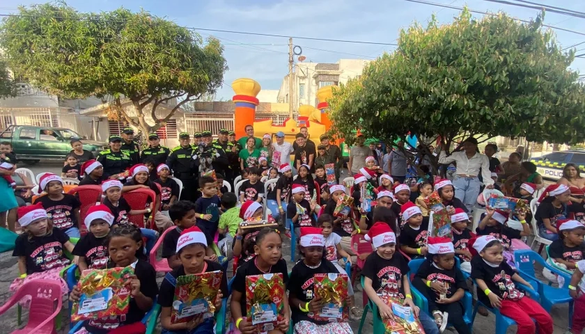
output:
{"label": "gold-ribboned wrapped gift, fourth from left in the front row", "polygon": [[313,276],[315,296],[321,296],[323,307],[313,319],[345,322],[350,317],[348,303],[348,275],[345,273],[315,273]]}

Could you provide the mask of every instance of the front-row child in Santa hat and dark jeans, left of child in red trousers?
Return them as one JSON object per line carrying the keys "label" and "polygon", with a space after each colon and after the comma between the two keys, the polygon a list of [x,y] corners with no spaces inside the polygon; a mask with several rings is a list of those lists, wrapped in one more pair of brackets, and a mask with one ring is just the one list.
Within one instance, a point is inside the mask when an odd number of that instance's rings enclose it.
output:
{"label": "front-row child in Santa hat and dark jeans, left of child in red trousers", "polygon": [[428,254],[421,264],[412,285],[428,301],[428,311],[435,318],[439,332],[443,333],[448,321],[459,334],[471,334],[463,320],[465,308],[461,299],[467,283],[463,273],[455,266],[455,248],[451,239],[428,238]]}

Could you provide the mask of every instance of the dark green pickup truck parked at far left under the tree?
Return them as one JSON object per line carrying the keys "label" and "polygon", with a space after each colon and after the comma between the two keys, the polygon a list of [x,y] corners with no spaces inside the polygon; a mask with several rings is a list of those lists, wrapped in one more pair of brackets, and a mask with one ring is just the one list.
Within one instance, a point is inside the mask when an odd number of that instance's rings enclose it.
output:
{"label": "dark green pickup truck parked at far left under the tree", "polygon": [[96,157],[106,147],[106,143],[88,141],[76,132],[63,127],[33,127],[29,125],[10,125],[0,132],[0,142],[12,143],[17,161],[24,164],[36,164],[42,160],[63,161],[71,151],[72,138],[80,138],[84,150]]}

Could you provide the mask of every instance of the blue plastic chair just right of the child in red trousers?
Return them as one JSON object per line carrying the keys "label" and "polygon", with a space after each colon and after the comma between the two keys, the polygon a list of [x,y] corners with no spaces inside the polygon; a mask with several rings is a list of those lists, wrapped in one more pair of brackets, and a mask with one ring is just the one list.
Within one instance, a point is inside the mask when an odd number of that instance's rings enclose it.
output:
{"label": "blue plastic chair just right of the child in red trousers", "polygon": [[[574,300],[569,295],[568,286],[571,280],[571,276],[564,271],[561,271],[548,264],[543,257],[540,257],[538,253],[533,250],[515,250],[514,251],[514,262],[520,276],[524,278],[533,287],[536,287],[538,294],[540,295],[540,305],[550,313],[552,305],[569,303],[569,329],[572,327],[572,313],[573,313],[573,302]],[[552,287],[547,283],[541,282],[534,273],[533,263],[537,262],[541,266],[549,269],[556,275],[565,278],[565,287]]]}

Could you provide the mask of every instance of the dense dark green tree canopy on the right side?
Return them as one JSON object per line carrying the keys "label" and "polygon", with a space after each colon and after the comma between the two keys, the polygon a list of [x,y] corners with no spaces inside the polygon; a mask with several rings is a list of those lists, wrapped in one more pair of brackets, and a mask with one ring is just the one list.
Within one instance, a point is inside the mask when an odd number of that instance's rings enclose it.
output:
{"label": "dense dark green tree canopy on the right side", "polygon": [[412,24],[396,51],[334,92],[332,131],[440,137],[446,148],[461,134],[585,141],[585,89],[568,69],[575,51],[561,51],[541,29],[543,14],[524,24],[504,13],[474,19],[466,9],[451,24]]}

